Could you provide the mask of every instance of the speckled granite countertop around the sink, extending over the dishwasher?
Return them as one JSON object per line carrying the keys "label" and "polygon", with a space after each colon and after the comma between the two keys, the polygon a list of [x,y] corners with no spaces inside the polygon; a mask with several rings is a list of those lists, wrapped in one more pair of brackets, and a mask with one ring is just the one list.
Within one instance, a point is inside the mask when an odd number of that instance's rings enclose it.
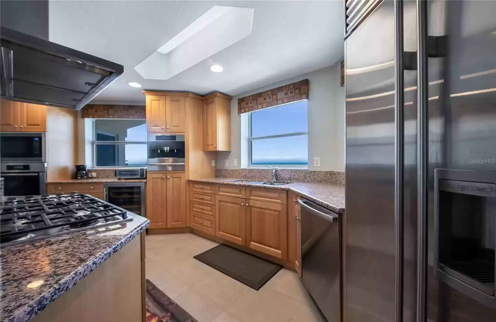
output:
{"label": "speckled granite countertop around the sink, extending over the dishwasher", "polygon": [[272,186],[263,184],[250,184],[236,182],[232,180],[248,180],[236,178],[206,178],[206,179],[189,179],[193,182],[229,184],[234,186],[245,186],[266,189],[280,189],[296,192],[303,197],[325,207],[337,214],[344,212],[344,186],[334,183],[313,183],[313,182],[293,182],[283,186]]}

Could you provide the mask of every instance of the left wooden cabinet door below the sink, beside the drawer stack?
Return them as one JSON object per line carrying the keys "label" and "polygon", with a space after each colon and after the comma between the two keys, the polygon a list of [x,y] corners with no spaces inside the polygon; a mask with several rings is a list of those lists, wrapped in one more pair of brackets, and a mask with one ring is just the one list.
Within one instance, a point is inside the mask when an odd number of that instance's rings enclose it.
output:
{"label": "left wooden cabinet door below the sink, beside the drawer stack", "polygon": [[215,200],[215,235],[246,246],[246,200],[217,196]]}

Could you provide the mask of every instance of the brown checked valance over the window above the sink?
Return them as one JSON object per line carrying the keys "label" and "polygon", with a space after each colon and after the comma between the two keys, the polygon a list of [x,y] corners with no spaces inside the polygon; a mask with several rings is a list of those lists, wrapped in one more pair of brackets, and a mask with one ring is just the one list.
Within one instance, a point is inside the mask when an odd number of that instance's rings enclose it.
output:
{"label": "brown checked valance over the window above the sink", "polygon": [[238,99],[238,114],[309,98],[308,79]]}

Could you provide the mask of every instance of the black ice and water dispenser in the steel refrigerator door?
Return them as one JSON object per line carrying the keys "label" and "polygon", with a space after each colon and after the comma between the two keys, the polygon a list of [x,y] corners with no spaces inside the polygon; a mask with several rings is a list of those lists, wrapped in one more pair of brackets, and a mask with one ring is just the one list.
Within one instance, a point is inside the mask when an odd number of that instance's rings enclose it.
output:
{"label": "black ice and water dispenser in the steel refrigerator door", "polygon": [[496,171],[435,169],[434,274],[496,308]]}

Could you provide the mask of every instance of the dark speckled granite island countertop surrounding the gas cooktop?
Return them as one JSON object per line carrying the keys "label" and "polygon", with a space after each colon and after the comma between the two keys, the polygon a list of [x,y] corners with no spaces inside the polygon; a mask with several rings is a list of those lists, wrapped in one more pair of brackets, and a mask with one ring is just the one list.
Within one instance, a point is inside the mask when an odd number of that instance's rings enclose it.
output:
{"label": "dark speckled granite island countertop surrounding the gas cooktop", "polygon": [[[2,322],[28,321],[150,224],[140,215],[107,232],[86,230],[1,249]],[[27,288],[43,281],[38,288]]]}

